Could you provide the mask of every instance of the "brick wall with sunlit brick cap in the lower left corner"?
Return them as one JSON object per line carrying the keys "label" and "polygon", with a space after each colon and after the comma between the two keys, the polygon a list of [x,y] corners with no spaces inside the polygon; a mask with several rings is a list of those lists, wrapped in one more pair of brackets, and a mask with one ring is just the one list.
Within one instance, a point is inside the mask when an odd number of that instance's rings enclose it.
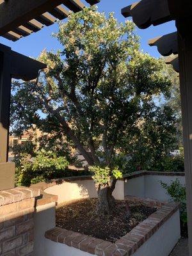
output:
{"label": "brick wall with sunlit brick cap in the lower left corner", "polygon": [[0,191],[0,255],[33,253],[35,197],[40,189],[19,187]]}

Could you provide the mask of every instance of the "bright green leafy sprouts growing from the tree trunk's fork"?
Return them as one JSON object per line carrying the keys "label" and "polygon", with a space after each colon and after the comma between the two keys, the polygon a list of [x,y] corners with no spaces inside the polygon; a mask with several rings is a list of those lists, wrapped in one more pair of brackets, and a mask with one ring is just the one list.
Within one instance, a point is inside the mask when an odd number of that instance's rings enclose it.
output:
{"label": "bright green leafy sprouts growing from the tree trunk's fork", "polygon": [[95,184],[110,184],[111,178],[120,179],[122,178],[122,172],[118,168],[111,170],[108,166],[90,166],[90,172],[93,173],[93,180]]}

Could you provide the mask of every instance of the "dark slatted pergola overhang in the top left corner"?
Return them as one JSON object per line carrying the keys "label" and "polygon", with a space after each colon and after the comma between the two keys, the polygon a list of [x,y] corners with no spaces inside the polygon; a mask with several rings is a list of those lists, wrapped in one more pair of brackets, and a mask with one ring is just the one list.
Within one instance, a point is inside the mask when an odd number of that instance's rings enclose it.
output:
{"label": "dark slatted pergola overhang in the top left corner", "polygon": [[[91,5],[100,2],[85,1]],[[0,36],[17,41],[67,18],[68,10],[79,12],[84,7],[80,0],[0,0]]]}

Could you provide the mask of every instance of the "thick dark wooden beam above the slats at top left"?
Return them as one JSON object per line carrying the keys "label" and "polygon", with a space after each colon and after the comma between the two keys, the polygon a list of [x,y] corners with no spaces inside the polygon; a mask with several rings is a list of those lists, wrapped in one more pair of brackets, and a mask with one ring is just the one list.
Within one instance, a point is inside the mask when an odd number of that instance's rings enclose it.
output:
{"label": "thick dark wooden beam above the slats at top left", "polygon": [[60,4],[65,4],[73,12],[83,10],[84,4],[79,0],[9,0],[0,4],[0,36],[13,28],[40,17]]}

